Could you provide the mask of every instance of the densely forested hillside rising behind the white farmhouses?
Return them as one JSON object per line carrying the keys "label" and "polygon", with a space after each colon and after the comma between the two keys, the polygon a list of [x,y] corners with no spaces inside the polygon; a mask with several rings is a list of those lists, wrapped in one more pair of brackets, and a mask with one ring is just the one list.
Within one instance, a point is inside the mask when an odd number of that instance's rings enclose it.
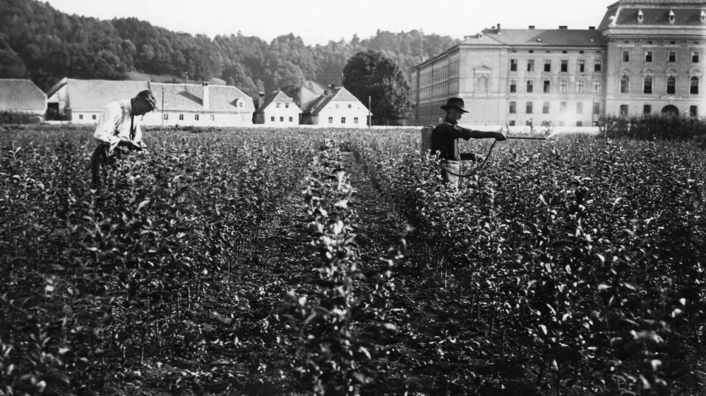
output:
{"label": "densely forested hillside rising behind the white farmhouses", "polygon": [[119,80],[136,70],[183,80],[222,78],[251,96],[304,80],[340,84],[348,59],[375,49],[405,73],[423,58],[456,44],[451,37],[383,32],[374,37],[306,45],[294,34],[268,43],[258,37],[172,32],[136,18],[97,20],[68,15],[47,3],[0,0],[0,78],[32,78],[42,89],[64,77]]}

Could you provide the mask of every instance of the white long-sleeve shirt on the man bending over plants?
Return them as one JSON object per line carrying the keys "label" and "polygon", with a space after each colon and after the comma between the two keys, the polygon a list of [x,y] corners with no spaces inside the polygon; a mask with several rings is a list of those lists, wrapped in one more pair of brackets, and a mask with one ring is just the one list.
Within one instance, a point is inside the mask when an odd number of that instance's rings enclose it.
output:
{"label": "white long-sleeve shirt on the man bending over plants", "polygon": [[135,130],[134,142],[142,142],[140,118],[133,117],[130,99],[114,101],[103,109],[98,118],[98,126],[93,137],[98,142],[110,144],[110,149],[115,149],[121,140],[130,140],[130,125]]}

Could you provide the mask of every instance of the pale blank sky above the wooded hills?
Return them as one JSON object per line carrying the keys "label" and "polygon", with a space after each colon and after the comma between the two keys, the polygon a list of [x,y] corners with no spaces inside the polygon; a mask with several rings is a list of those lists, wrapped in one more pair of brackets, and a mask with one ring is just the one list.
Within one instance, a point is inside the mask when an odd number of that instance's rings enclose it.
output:
{"label": "pale blank sky above the wooded hills", "polygon": [[[570,29],[597,26],[616,0],[49,0],[69,14],[100,19],[136,17],[169,30],[214,37],[241,31],[270,42],[294,33],[305,44],[376,30],[450,35],[462,39],[500,23],[504,28]],[[448,5],[447,5],[448,4]]]}

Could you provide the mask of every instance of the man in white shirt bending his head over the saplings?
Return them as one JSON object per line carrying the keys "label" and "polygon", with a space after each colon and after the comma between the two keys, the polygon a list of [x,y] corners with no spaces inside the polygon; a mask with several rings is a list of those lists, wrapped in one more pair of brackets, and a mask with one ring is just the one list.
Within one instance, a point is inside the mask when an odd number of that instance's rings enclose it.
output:
{"label": "man in white shirt bending his head over the saplings", "polygon": [[157,98],[149,89],[138,93],[132,99],[114,101],[103,109],[98,118],[93,137],[99,142],[91,158],[93,188],[99,188],[100,168],[107,165],[116,147],[141,151],[142,142],[140,119],[157,107]]}

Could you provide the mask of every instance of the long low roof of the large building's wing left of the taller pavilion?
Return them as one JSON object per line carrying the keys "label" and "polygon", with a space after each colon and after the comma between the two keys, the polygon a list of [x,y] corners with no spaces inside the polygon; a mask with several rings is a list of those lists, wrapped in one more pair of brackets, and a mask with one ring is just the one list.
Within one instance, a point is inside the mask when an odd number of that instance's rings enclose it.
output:
{"label": "long low roof of the large building's wing left of the taller pavilion", "polygon": [[[603,35],[599,30],[579,29],[486,29],[483,34],[489,39],[510,46],[534,47],[601,47]],[[467,44],[467,42],[464,42]],[[469,43],[475,44],[475,43]]]}

